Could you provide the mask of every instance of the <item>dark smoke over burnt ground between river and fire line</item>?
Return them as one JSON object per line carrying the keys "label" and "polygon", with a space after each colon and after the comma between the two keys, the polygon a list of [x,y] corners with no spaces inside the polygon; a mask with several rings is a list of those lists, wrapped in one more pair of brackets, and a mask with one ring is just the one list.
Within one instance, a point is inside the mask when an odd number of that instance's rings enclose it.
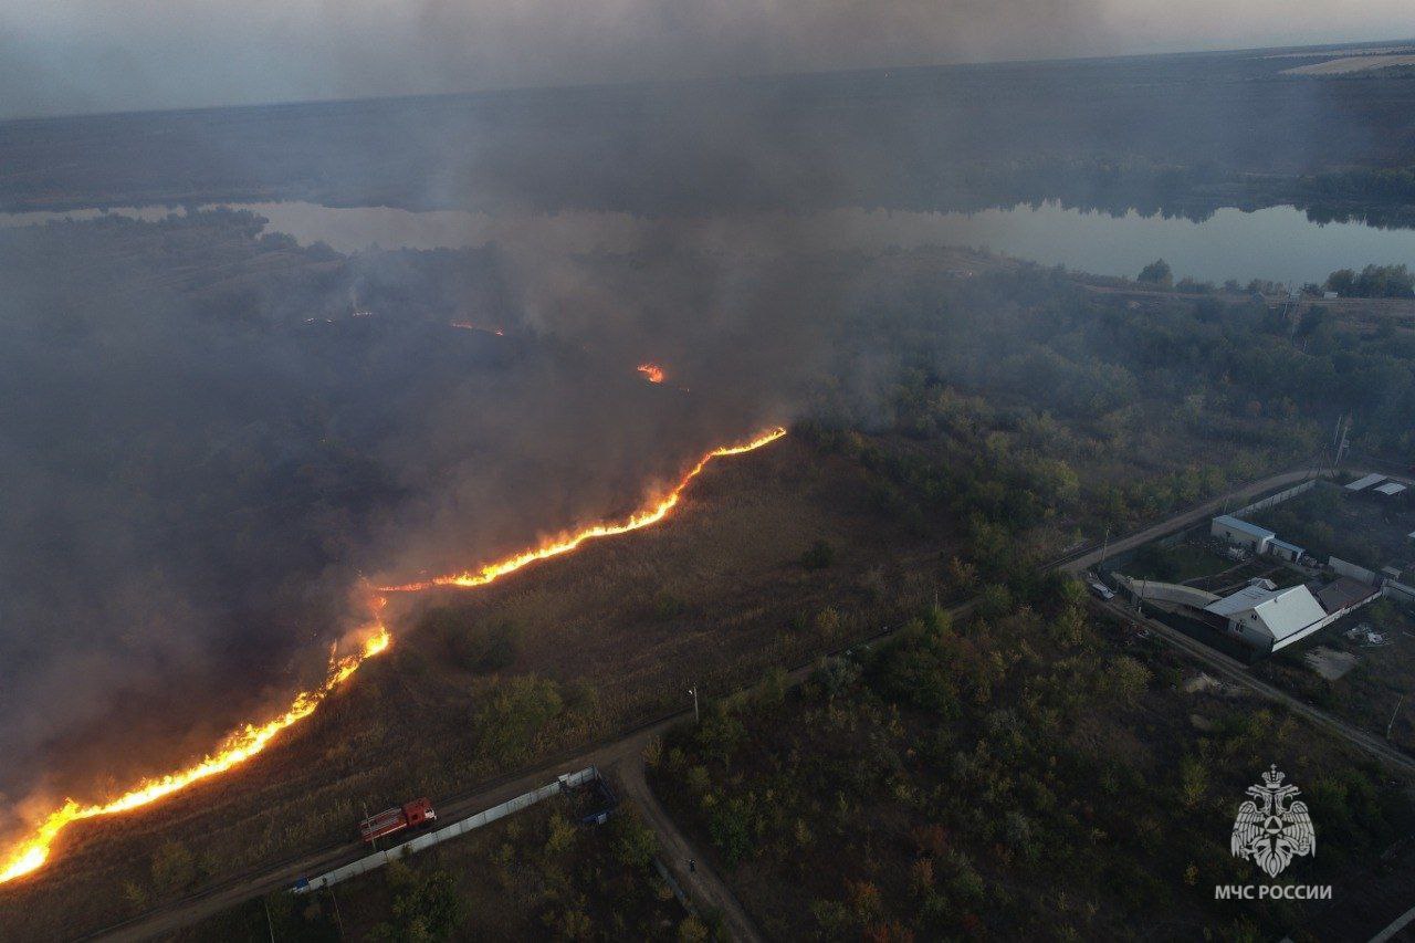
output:
{"label": "dark smoke over burnt ground between river and fire line", "polygon": [[11,800],[198,756],[320,677],[366,579],[621,515],[788,421],[839,303],[791,217],[750,256],[668,219],[613,255],[340,256],[258,229],[0,232]]}

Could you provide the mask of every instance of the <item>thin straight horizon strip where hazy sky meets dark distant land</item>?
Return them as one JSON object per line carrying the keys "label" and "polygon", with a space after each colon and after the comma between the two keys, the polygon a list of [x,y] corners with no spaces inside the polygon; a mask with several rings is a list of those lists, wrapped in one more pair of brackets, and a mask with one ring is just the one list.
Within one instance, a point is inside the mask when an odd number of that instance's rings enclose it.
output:
{"label": "thin straight horizon strip where hazy sky meets dark distant land", "polygon": [[989,59],[896,62],[887,65],[781,69],[781,71],[763,71],[763,72],[693,75],[693,76],[627,78],[627,79],[603,79],[603,81],[583,81],[583,82],[566,81],[566,82],[543,82],[543,84],[509,84],[509,85],[485,85],[485,86],[466,88],[466,89],[408,91],[408,92],[385,92],[385,93],[366,93],[366,95],[333,95],[323,98],[273,98],[266,101],[238,99],[238,101],[192,103],[192,105],[115,108],[106,110],[33,112],[33,113],[14,113],[14,115],[6,115],[0,112],[0,125],[83,119],[83,118],[122,118],[129,115],[130,116],[180,115],[180,113],[262,109],[262,108],[303,108],[316,105],[355,105],[365,102],[374,103],[374,102],[423,101],[423,99],[456,99],[456,98],[512,95],[518,92],[560,92],[560,91],[577,91],[577,89],[616,89],[616,88],[630,89],[630,88],[695,86],[695,85],[706,86],[713,84],[726,84],[726,82],[760,82],[760,81],[785,79],[785,78],[809,78],[815,75],[850,75],[850,74],[866,75],[872,72],[890,72],[894,69],[930,71],[930,69],[985,68],[992,65],[1044,65],[1044,64],[1061,65],[1067,62],[1105,62],[1115,59],[1149,59],[1149,58],[1167,58],[1167,57],[1186,57],[1186,55],[1224,55],[1224,54],[1241,55],[1244,52],[1258,54],[1258,52],[1274,52],[1285,50],[1340,51],[1346,48],[1363,48],[1373,45],[1378,47],[1385,44],[1415,47],[1415,34],[1408,37],[1367,37],[1358,40],[1272,42],[1259,45],[1242,42],[1234,45],[1211,45],[1199,48],[1152,48],[1152,50],[1119,51],[1119,52],[1058,54],[1058,55],[1040,55],[1040,57],[1019,55],[1019,57],[1000,57]]}

